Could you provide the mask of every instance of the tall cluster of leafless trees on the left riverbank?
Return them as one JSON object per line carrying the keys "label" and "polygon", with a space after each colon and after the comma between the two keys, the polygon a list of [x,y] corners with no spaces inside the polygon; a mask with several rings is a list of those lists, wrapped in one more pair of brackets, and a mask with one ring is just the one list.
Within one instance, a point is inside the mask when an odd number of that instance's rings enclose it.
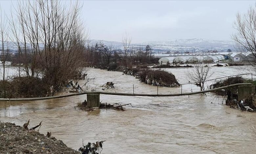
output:
{"label": "tall cluster of leafless trees on the left riverbank", "polygon": [[83,66],[81,54],[87,33],[78,1],[19,1],[17,21],[11,20],[12,40],[28,78],[43,74],[49,84],[59,87]]}

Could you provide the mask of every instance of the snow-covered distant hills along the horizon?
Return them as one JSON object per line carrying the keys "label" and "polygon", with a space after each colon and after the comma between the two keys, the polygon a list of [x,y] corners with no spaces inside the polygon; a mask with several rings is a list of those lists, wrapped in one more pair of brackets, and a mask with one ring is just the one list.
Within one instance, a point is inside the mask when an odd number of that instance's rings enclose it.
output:
{"label": "snow-covered distant hills along the horizon", "polygon": [[[104,40],[90,40],[90,45],[104,43],[106,46],[112,46],[116,49],[122,49],[122,42],[104,41]],[[155,52],[204,52],[208,50],[227,51],[227,49],[234,50],[235,43],[233,41],[217,41],[207,39],[173,39],[167,41],[149,41],[144,43],[132,44],[134,48],[145,48],[150,45]]]}

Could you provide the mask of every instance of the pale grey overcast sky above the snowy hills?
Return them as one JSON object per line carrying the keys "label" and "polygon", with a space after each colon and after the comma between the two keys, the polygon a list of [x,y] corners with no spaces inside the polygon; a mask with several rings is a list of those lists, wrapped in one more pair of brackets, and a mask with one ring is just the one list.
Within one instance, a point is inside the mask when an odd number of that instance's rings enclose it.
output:
{"label": "pale grey overcast sky above the snowy hills", "polygon": [[[15,3],[16,2],[12,2]],[[255,1],[84,1],[82,18],[90,39],[133,43],[168,39],[231,40],[236,13]],[[11,4],[1,1],[2,10]]]}

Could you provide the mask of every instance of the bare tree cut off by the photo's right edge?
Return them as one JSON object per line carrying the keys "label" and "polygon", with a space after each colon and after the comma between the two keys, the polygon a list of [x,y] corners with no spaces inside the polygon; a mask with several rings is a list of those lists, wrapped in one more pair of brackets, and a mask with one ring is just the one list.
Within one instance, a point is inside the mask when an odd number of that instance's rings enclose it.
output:
{"label": "bare tree cut off by the photo's right edge", "polygon": [[256,5],[250,7],[243,15],[237,13],[234,28],[237,32],[232,39],[236,42],[237,48],[248,51],[249,61],[256,67]]}

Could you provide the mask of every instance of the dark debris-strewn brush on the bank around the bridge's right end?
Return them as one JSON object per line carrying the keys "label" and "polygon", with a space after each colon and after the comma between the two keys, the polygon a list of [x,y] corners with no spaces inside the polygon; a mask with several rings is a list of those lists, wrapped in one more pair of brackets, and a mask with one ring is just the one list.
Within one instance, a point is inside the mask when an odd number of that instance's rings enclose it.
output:
{"label": "dark debris-strewn brush on the bank around the bridge's right end", "polygon": [[[230,77],[229,79],[218,81],[215,84],[212,84],[210,88],[224,87],[227,85],[239,84],[239,83],[252,83],[255,85],[255,81],[245,80],[241,76]],[[214,91],[216,95],[226,97],[226,105],[231,108],[256,112],[256,93],[247,95],[243,100],[238,101],[238,88],[232,87],[228,89],[222,89]]]}

